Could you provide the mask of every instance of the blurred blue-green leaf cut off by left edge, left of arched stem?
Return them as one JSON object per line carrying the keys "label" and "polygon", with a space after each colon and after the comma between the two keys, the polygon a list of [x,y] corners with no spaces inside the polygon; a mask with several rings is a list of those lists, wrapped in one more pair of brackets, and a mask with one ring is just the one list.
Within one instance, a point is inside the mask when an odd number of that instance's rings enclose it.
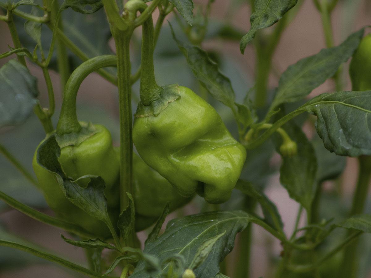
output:
{"label": "blurred blue-green leaf cut off by left edge, left of arched stem", "polygon": [[37,80],[27,68],[10,60],[0,69],[0,127],[20,125],[38,100]]}

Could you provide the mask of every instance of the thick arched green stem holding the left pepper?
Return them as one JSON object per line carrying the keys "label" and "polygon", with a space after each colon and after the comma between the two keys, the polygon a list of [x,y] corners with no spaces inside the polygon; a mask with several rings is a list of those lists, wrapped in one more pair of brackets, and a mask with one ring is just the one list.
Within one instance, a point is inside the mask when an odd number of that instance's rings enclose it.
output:
{"label": "thick arched green stem holding the left pepper", "polygon": [[62,109],[60,111],[57,125],[58,135],[79,132],[81,130],[81,125],[79,124],[76,115],[76,96],[79,87],[86,76],[101,67],[116,66],[116,63],[116,56],[102,55],[83,62],[73,71],[68,79],[65,93],[63,95]]}

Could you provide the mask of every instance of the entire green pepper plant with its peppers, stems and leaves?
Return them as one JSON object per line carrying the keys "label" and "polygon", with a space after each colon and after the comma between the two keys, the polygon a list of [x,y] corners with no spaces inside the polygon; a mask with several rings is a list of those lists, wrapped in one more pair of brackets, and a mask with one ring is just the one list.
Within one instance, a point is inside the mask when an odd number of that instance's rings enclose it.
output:
{"label": "entire green pepper plant with its peppers, stems and leaves", "polygon": [[[62,229],[66,244],[85,249],[88,266],[6,232],[0,233],[1,248],[19,249],[86,277],[246,278],[253,267],[252,225],[258,225],[282,248],[267,277],[349,278],[370,270],[359,264],[366,255],[358,249],[367,240],[361,235],[371,232],[371,215],[365,213],[371,178],[368,27],[336,45],[331,14],[338,1],[313,0],[326,48],[289,66],[270,90],[273,55],[303,0],[230,2],[231,14],[240,5],[250,6],[246,34],[226,22],[212,25],[213,0],[0,1],[0,20],[13,42],[0,55],[8,59],[0,68],[2,136],[15,132],[22,137],[20,130],[31,129],[33,114],[45,131],[35,145],[22,142],[31,149],[27,161],[31,165],[32,160],[34,173],[6,147],[5,139],[0,152],[9,161],[1,160],[1,167],[13,164],[26,178],[20,189],[32,195],[35,191],[26,184],[35,186],[54,216],[6,185],[0,189],[1,211],[10,206]],[[183,54],[181,60],[198,82],[197,92],[177,80],[158,85],[154,52],[165,29],[169,37],[162,45],[173,44],[177,50],[172,55]],[[115,51],[109,48],[111,38]],[[238,40],[236,52],[242,54],[249,44],[255,47],[250,88],[233,89],[219,69],[220,53],[203,48],[210,38]],[[348,60],[351,91],[344,90]],[[38,82],[46,84],[47,107],[37,98],[35,67],[44,77]],[[177,73],[176,67],[171,70]],[[60,107],[51,71],[60,77]],[[118,88],[119,124],[114,130],[119,147],[110,128],[99,117],[92,120],[93,109],[85,118],[78,114],[81,107],[76,109],[81,84],[93,72]],[[327,79],[334,90],[308,99]],[[219,102],[233,121],[218,114]],[[316,135],[308,138],[305,123]],[[267,178],[278,170],[270,163],[275,153],[282,161],[280,183],[299,203],[292,234],[283,229],[279,210],[265,193]],[[331,194],[334,204],[345,208],[339,177],[346,156],[359,162],[352,205],[348,211],[331,211]],[[335,181],[332,192],[324,190],[326,181]],[[198,213],[190,214],[187,204]],[[145,231],[145,241],[139,241],[139,231]],[[230,252],[235,260],[226,259]]]}

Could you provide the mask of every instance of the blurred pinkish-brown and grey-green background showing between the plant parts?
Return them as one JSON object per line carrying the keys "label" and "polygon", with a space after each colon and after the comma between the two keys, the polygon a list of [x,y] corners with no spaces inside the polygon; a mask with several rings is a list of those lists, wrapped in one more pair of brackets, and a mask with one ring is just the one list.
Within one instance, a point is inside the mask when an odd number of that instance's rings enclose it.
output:
{"label": "blurred pinkish-brown and grey-green background showing between the plant parts", "polygon": [[[303,57],[317,53],[321,48],[325,47],[321,23],[319,22],[319,14],[314,4],[310,0],[301,1],[302,3],[298,14],[283,33],[282,39],[273,56],[272,72],[269,76],[269,88],[274,88],[277,85],[279,75],[287,66]],[[167,19],[174,26],[178,39],[182,41],[191,39],[193,43],[198,43],[196,35],[200,34],[199,29],[203,28],[202,24],[204,23],[204,18],[200,15],[200,10],[205,9],[207,1],[194,0],[194,2],[196,5],[196,9],[194,10],[196,23],[194,32],[196,33],[191,32],[186,36],[180,27],[180,20],[174,17],[173,14],[168,16]],[[243,101],[247,92],[253,90],[255,83],[254,46],[249,45],[244,56],[242,56],[239,51],[239,41],[250,26],[250,9],[247,2],[246,0],[215,0],[211,6],[211,14],[208,19],[207,29],[204,33],[202,33],[203,31],[201,30],[203,39],[200,42],[202,48],[207,50],[211,59],[219,65],[221,72],[231,80],[234,92],[236,93],[236,101],[240,103]],[[24,9],[27,9],[27,7]],[[0,13],[2,12],[0,11]],[[349,33],[357,30],[359,27],[369,24],[370,14],[371,2],[368,0],[340,0],[333,14],[336,45],[342,42]],[[157,17],[156,13],[154,17]],[[22,44],[32,52],[35,47],[35,42],[24,32],[24,20],[18,17],[16,18],[16,26]],[[103,9],[89,15],[79,14],[68,9],[63,12],[63,22],[66,36],[81,47],[83,52],[89,57],[113,53],[113,42],[110,37],[109,26],[106,22]],[[181,24],[187,27],[185,21],[181,21]],[[43,28],[45,30],[43,29],[42,45],[47,50],[51,32],[46,26]],[[199,29],[197,30],[197,28]],[[271,32],[271,29],[268,28],[262,30],[262,32]],[[140,64],[140,37],[141,30],[139,28],[139,30],[135,30],[131,45],[132,73],[136,72]],[[0,52],[2,53],[8,50],[7,44],[12,45],[7,26],[4,22],[0,22],[0,38]],[[0,65],[9,59],[10,58],[0,60]],[[69,62],[73,68],[80,64],[81,60],[72,53],[69,53]],[[55,62],[52,62],[50,67],[52,70],[55,70]],[[32,73],[39,79],[40,102],[47,103],[46,86],[43,83],[42,74],[40,70],[32,66],[31,63],[30,68],[32,69]],[[348,66],[346,65],[343,75],[346,87],[349,88],[347,68]],[[114,73],[115,69],[112,68],[109,69],[109,71]],[[179,83],[197,92],[215,107],[232,135],[238,138],[238,131],[231,110],[213,99],[194,77],[185,57],[180,53],[177,44],[173,40],[170,27],[166,21],[161,30],[155,49],[155,74],[157,82],[160,85]],[[53,116],[53,122],[56,124],[56,120],[59,116],[58,107],[60,107],[61,103],[58,74],[52,73],[52,80],[55,84],[56,91],[57,111]],[[139,82],[136,82],[132,87],[133,113],[135,112],[135,107],[139,99],[138,91]],[[311,97],[322,92],[332,91],[334,91],[334,83],[332,80],[328,80],[324,85],[321,85],[312,92]],[[273,90],[270,90],[270,95],[272,94]],[[298,103],[294,103],[293,105],[287,106],[286,110],[289,112],[297,106]],[[258,114],[264,109],[263,107],[260,111],[258,110]],[[117,145],[119,126],[118,95],[116,87],[95,73],[89,76],[83,82],[79,92],[78,118],[106,126]],[[319,169],[326,168],[326,175],[332,172],[334,177],[336,177],[345,168],[344,174],[335,181],[322,184],[323,196],[320,206],[321,219],[344,218],[351,202],[350,196],[357,176],[355,160],[348,159],[348,161],[346,161],[343,157],[329,153],[324,148],[322,141],[318,140],[318,136],[313,130],[311,117],[308,118],[307,115],[303,115],[301,118],[296,119],[296,123],[303,126],[306,135],[312,140],[319,160]],[[45,133],[38,119],[35,115],[31,115],[20,126],[0,129],[0,144],[12,152],[27,170],[32,172],[32,156],[36,146],[44,136]],[[259,148],[248,151],[242,178],[253,182],[260,188],[265,188],[267,195],[278,206],[278,210],[285,223],[285,231],[290,232],[295,222],[298,204],[289,199],[287,192],[279,185],[279,165],[279,156],[276,155],[271,140],[268,140]],[[330,166],[332,168],[328,169]],[[321,173],[318,173],[318,175],[321,175]],[[0,188],[1,191],[16,198],[18,201],[24,202],[48,214],[52,214],[47,208],[42,194],[32,183],[23,178],[17,169],[1,155]],[[246,209],[246,207],[252,206],[249,201],[247,197],[234,191],[232,198],[224,203],[221,208]],[[190,205],[174,212],[168,218],[170,219],[178,215],[211,209],[213,209],[212,205],[205,203],[201,198],[195,198]],[[371,212],[371,202],[368,202],[365,212]],[[304,221],[304,217],[302,221]],[[72,257],[82,264],[86,264],[81,251],[64,244],[62,239],[60,239],[60,233],[61,231],[56,228],[50,228],[46,225],[39,224],[13,211],[9,206],[0,201],[0,238],[11,239],[17,242],[25,242],[26,239],[24,238],[27,238],[29,241],[36,242],[49,250],[52,249],[56,254]],[[145,233],[146,231],[141,232],[141,239],[145,238]],[[331,242],[336,240],[336,237],[342,238],[343,236],[344,234],[342,232],[338,232],[334,236],[331,236],[322,248],[325,249],[327,245],[330,246]],[[28,244],[32,243],[28,242]],[[362,246],[359,252],[362,252],[363,256],[360,261],[361,271],[358,277],[371,277],[369,274],[371,268],[370,237],[362,236],[359,244]],[[236,246],[235,249],[237,250],[243,248],[243,245],[239,244],[238,237]],[[250,269],[251,277],[271,277],[279,252],[279,242],[270,238],[262,229],[254,227],[252,254],[250,258],[252,261],[251,265],[253,266],[253,268]],[[233,251],[227,257],[227,261],[238,260],[235,254],[236,252]],[[298,254],[297,259],[304,259],[305,256],[306,255],[303,253]],[[324,265],[324,269],[321,271],[321,277],[333,277],[332,274],[334,270],[332,270],[331,267],[332,265],[336,267],[336,259],[339,260],[340,258],[338,258],[338,256],[334,257],[334,259]],[[232,270],[228,272],[230,277],[234,277]],[[0,277],[76,277],[76,275],[21,251],[1,247]],[[286,277],[294,276],[287,275]],[[300,277],[306,276],[301,275]]]}

